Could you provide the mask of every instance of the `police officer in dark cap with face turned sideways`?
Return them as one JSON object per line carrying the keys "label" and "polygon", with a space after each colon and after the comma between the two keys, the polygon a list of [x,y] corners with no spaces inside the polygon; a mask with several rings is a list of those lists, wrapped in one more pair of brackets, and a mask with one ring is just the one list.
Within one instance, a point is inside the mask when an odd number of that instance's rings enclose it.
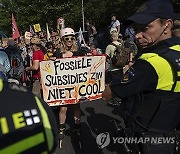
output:
{"label": "police officer in dark cap with face turned sideways", "polygon": [[153,0],[128,18],[142,54],[103,92],[105,100],[138,96],[127,107],[128,114],[133,114],[135,137],[147,139],[138,144],[143,154],[171,154],[175,149],[175,129],[180,122],[180,38],[172,37],[173,16],[169,0]]}

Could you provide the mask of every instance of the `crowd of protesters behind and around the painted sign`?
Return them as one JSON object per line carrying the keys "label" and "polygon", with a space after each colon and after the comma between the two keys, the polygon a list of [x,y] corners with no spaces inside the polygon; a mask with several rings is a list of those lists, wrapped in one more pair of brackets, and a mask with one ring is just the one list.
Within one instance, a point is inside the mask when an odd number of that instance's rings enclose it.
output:
{"label": "crowd of protesters behind and around the painted sign", "polygon": [[[34,94],[42,98],[42,88],[40,82],[40,62],[43,60],[53,60],[56,58],[67,58],[73,56],[85,56],[85,55],[106,55],[106,83],[112,81],[117,75],[124,74],[135,61],[135,57],[138,48],[135,44],[134,30],[129,25],[122,35],[120,31],[120,22],[117,20],[115,14],[111,16],[111,24],[109,26],[109,45],[105,51],[98,48],[97,30],[95,26],[90,22],[86,22],[88,39],[81,41],[76,36],[72,28],[63,28],[60,33],[52,31],[50,40],[46,39],[46,34],[35,33],[29,43],[25,43],[25,40],[8,40],[6,44],[0,43],[0,76],[4,80],[9,82],[15,82],[27,86],[32,90]],[[176,21],[179,27],[179,22]],[[175,27],[175,28],[176,28]],[[176,33],[174,28],[174,35]],[[179,32],[179,31],[178,31]],[[128,63],[123,67],[116,67],[112,63],[112,58],[116,50],[116,45],[123,45],[125,40],[133,47],[132,52],[129,55]],[[114,45],[115,44],[115,45]],[[117,105],[121,100],[112,100],[111,104]],[[74,106],[74,129],[77,134],[80,133],[80,105]],[[65,131],[66,112],[67,105],[61,106],[59,109],[59,129],[60,134],[63,136]]]}

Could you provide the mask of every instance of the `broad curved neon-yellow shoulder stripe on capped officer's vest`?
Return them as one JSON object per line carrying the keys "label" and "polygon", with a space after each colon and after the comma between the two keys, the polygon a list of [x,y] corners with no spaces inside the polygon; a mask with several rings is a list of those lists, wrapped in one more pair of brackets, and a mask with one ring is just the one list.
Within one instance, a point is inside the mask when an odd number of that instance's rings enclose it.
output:
{"label": "broad curved neon-yellow shoulder stripe on capped officer's vest", "polygon": [[167,60],[155,53],[142,54],[140,59],[149,62],[158,75],[158,83],[156,89],[171,91],[174,83],[173,70]]}

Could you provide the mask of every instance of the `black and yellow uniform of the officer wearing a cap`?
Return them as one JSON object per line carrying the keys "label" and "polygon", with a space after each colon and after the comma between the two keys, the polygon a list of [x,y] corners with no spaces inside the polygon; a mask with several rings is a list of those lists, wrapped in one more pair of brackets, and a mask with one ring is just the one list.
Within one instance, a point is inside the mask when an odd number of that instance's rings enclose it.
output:
{"label": "black and yellow uniform of the officer wearing a cap", "polygon": [[[123,78],[110,85],[116,97],[127,99],[138,95],[126,112],[135,119],[133,129],[137,134],[174,136],[180,122],[179,42],[180,38],[174,37],[145,49]],[[166,147],[162,147],[165,152]]]}

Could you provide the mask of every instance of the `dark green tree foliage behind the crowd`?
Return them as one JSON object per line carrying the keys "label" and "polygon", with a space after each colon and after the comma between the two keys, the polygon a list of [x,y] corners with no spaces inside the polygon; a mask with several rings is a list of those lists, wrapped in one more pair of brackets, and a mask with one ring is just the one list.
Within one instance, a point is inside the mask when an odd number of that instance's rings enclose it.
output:
{"label": "dark green tree foliage behind the crowd", "polygon": [[[176,1],[176,0],[175,0]],[[179,0],[177,0],[179,1]],[[40,23],[56,29],[57,18],[64,17],[66,27],[75,31],[82,27],[82,0],[0,0],[0,30],[12,35],[11,14],[14,13],[21,34],[29,25]],[[92,20],[97,30],[110,23],[110,15],[117,14],[123,21],[132,15],[143,0],[84,0],[85,19]],[[175,5],[176,10],[179,9]],[[176,11],[177,12],[177,11]]]}

